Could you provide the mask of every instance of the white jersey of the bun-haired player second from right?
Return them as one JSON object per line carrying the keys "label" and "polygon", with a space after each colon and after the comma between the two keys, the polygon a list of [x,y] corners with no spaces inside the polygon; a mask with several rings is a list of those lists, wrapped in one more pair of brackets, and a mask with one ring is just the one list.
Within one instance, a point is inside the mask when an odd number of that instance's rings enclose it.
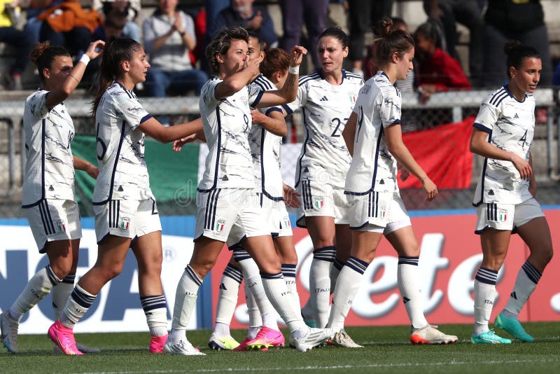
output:
{"label": "white jersey of the bun-haired player second from right", "polygon": [[400,91],[382,71],[368,79],[360,90],[353,109],[358,120],[345,193],[398,191],[397,161],[388,151],[384,128],[400,123],[401,102]]}

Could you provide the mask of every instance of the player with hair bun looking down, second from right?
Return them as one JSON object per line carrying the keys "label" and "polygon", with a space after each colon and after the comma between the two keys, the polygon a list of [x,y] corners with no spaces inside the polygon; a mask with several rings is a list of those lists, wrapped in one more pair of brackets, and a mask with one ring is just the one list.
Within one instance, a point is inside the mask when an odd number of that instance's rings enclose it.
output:
{"label": "player with hair bun looking down, second from right", "polygon": [[[393,85],[412,69],[414,41],[402,30],[390,31],[391,19],[379,21],[382,32],[376,42],[376,65],[381,69],[370,78],[356,101],[342,136],[352,155],[346,176],[345,193],[353,212],[351,256],[340,271],[332,300],[328,326],[343,331],[344,319],[356,296],[360,279],[385,235],[398,253],[398,287],[412,324],[410,341],[415,344],[447,344],[457,337],[445,335],[431,326],[423,314],[419,291],[420,247],[402,203],[396,181],[397,162],[418,178],[426,200],[437,195],[437,187],[416,163],[402,143],[401,98]],[[337,334],[334,342],[346,340]]]}

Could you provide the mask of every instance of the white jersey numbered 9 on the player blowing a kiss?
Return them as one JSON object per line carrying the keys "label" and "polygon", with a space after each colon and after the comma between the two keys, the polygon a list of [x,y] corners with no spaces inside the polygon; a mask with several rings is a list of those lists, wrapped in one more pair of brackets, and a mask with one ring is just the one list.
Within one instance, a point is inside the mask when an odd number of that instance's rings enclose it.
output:
{"label": "white jersey numbered 9 on the player blowing a kiss", "polygon": [[216,99],[214,90],[221,79],[211,79],[200,92],[200,115],[209,155],[198,191],[214,188],[255,188],[253,160],[248,135],[251,106],[262,97],[258,85],[246,85],[235,94]]}

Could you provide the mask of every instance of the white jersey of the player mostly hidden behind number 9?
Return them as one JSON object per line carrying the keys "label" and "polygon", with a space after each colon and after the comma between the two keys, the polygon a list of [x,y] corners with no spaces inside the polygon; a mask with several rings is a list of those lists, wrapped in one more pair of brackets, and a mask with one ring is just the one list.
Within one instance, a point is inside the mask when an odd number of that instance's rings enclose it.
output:
{"label": "white jersey of the player mostly hidden behind number 9", "polygon": [[[274,83],[262,74],[255,78],[253,84],[265,91],[277,89]],[[279,106],[259,108],[258,110],[267,116],[272,111],[283,113]],[[283,200],[282,173],[280,172],[282,137],[272,134],[258,124],[253,124],[249,134],[249,146],[253,157],[255,191],[262,192],[272,200]]]}

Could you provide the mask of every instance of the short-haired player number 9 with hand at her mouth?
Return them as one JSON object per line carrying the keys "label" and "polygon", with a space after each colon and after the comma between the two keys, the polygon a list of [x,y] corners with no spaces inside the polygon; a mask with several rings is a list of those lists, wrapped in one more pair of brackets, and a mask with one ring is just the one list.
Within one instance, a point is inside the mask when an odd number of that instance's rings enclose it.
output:
{"label": "short-haired player number 9 with hand at her mouth", "polygon": [[247,43],[247,32],[235,27],[224,29],[207,48],[208,60],[217,74],[204,85],[200,96],[210,153],[198,185],[195,248],[177,286],[172,331],[165,344],[168,353],[200,354],[188,342],[186,327],[202,279],[216,263],[233,226],[245,233],[244,248],[258,264],[266,296],[290,328],[293,345],[306,351],[330,337],[328,329],[307,328],[289,296],[270,230],[262,224],[266,219],[253,190],[253,160],[248,144],[251,106],[269,107],[295,99],[297,69],[306,50],[293,48],[290,74],[283,88],[265,92],[258,85],[248,85],[260,61],[248,60]]}

